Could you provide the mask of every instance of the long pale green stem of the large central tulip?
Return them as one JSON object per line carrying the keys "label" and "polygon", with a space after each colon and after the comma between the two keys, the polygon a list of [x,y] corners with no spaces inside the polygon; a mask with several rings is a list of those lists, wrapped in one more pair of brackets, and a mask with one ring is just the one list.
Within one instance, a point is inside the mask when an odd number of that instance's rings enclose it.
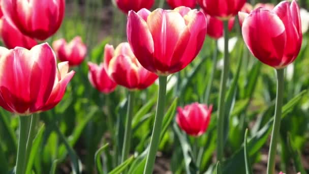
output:
{"label": "long pale green stem of the large central tulip", "polygon": [[161,134],[163,115],[164,115],[166,83],[167,83],[167,77],[159,76],[159,96],[158,96],[156,118],[154,119],[154,125],[150,140],[150,148],[147,155],[144,174],[152,173],[154,161],[156,160],[156,154],[159,147],[159,140],[160,140],[159,138]]}

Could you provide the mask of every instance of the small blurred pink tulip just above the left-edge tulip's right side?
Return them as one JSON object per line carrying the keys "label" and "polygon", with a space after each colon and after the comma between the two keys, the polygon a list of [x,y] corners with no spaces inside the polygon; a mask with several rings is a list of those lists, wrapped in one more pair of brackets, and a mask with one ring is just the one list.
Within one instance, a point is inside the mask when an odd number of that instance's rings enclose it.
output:
{"label": "small blurred pink tulip just above the left-edge tulip's right side", "polygon": [[81,37],[75,37],[70,43],[65,39],[59,39],[52,43],[58,59],[61,62],[68,61],[70,66],[80,65],[87,54],[86,45],[81,40]]}

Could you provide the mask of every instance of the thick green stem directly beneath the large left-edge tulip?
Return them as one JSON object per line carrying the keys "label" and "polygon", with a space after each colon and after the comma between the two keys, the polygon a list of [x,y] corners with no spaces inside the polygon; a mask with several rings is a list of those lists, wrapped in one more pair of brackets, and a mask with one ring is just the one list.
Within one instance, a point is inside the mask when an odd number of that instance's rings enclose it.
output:
{"label": "thick green stem directly beneath the large left-edge tulip", "polygon": [[29,125],[32,117],[21,116],[19,117],[19,138],[18,138],[18,150],[16,160],[15,174],[24,174],[26,166],[26,151],[27,151],[27,139],[29,133]]}

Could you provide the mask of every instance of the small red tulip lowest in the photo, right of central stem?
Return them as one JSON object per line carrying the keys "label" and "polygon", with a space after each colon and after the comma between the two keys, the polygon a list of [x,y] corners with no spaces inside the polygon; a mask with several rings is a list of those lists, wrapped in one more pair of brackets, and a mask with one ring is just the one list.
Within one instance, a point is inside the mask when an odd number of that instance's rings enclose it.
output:
{"label": "small red tulip lowest in the photo, right of central stem", "polygon": [[207,107],[205,104],[192,103],[184,108],[178,107],[176,122],[178,126],[187,134],[200,136],[205,133],[211,115],[212,106]]}

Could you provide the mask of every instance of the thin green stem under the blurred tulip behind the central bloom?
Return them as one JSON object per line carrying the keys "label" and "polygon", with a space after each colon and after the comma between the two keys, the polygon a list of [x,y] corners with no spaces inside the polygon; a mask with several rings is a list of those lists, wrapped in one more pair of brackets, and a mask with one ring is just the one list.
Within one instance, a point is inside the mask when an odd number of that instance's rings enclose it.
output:
{"label": "thin green stem under the blurred tulip behind the central bloom", "polygon": [[123,140],[121,163],[125,161],[129,156],[130,144],[131,144],[131,129],[133,119],[133,107],[134,107],[134,91],[129,91],[128,94],[128,107],[127,107],[127,122],[125,128],[125,139]]}

